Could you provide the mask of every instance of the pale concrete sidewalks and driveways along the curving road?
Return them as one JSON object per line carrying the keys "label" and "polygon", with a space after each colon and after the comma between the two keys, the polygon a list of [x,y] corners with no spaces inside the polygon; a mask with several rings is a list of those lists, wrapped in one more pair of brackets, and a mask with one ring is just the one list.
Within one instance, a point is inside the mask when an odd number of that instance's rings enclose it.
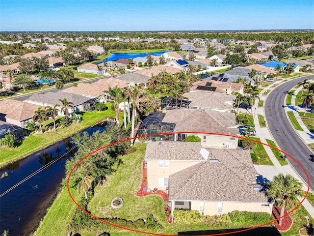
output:
{"label": "pale concrete sidewalks and driveways along the curving road", "polygon": [[[264,91],[266,91],[267,89],[269,89],[269,90],[274,89],[274,87],[273,87],[274,84],[281,84],[281,83],[284,83],[284,82],[285,81],[275,82],[275,83],[269,85],[268,87],[264,88],[260,92],[260,94],[263,94]],[[260,96],[261,100],[265,100],[266,97],[267,97],[267,95]],[[252,109],[252,115],[253,115],[253,119],[254,119],[254,124],[255,124],[257,137],[260,138],[260,140],[261,140],[261,142],[263,144],[267,144],[266,139],[269,139],[269,140],[274,141],[275,144],[278,147],[278,144],[273,139],[273,137],[272,137],[268,127],[263,127],[262,128],[260,126],[258,115],[262,115],[264,117],[264,109],[263,109],[263,107],[258,107],[258,102],[259,102],[259,100],[256,99],[255,103],[254,103],[254,106],[253,106],[253,109]],[[292,101],[291,101],[291,103],[292,103]],[[302,122],[301,118],[299,120]],[[302,122],[302,124],[303,124],[303,122]],[[310,133],[310,131],[307,129],[307,131],[303,131],[303,134],[301,134],[300,137],[307,138],[307,136],[309,137],[308,133]],[[313,140],[310,141],[309,138],[307,138],[307,141],[310,142],[310,143],[314,142]],[[308,142],[306,142],[306,143],[308,143]],[[299,177],[299,175],[291,168],[291,166],[290,165],[282,166],[279,163],[279,161],[277,160],[277,158],[275,157],[275,155],[272,152],[271,148],[266,146],[266,145],[264,145],[264,148],[265,148],[265,151],[266,151],[267,155],[269,156],[270,160],[272,161],[272,163],[274,165],[273,166],[254,165],[255,170],[257,171],[257,173],[259,173],[262,176],[263,180],[265,182],[267,182],[269,180],[273,180],[273,177],[277,176],[278,174],[284,174],[284,175],[291,174],[292,176],[296,177],[297,179],[300,180],[300,182],[303,183],[303,190],[307,191],[308,184],[305,183],[301,177]],[[300,199],[300,200],[302,200],[302,199]],[[302,202],[302,205],[306,208],[306,210],[309,212],[309,214],[314,218],[314,207],[309,203],[309,201],[307,199],[305,199]]]}

